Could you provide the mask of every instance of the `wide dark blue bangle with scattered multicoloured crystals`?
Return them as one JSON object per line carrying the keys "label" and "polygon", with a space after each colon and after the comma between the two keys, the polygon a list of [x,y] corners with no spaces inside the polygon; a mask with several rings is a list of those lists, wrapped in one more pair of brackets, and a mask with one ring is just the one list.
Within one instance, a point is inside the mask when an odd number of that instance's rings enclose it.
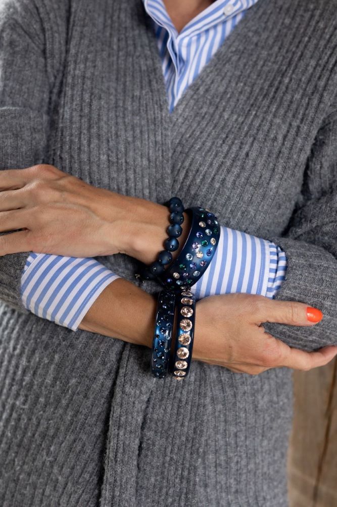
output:
{"label": "wide dark blue bangle with scattered multicoloured crystals", "polygon": [[188,289],[203,275],[212,261],[220,238],[217,216],[209,209],[185,209],[191,218],[191,229],[178,258],[157,274],[168,288]]}

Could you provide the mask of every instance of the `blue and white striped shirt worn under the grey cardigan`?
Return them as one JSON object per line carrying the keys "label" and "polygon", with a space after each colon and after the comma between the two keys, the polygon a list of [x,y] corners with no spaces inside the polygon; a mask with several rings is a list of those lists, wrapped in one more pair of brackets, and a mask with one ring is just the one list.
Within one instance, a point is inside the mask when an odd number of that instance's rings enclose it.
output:
{"label": "blue and white striped shirt worn under the grey cardigan", "polygon": [[[156,33],[170,112],[257,1],[217,0],[178,34],[161,0],[143,0]],[[277,245],[221,226],[215,257],[191,290],[197,299],[235,292],[273,298],[285,273],[286,257]],[[22,301],[36,315],[76,331],[103,289],[116,278],[92,258],[32,252],[22,274]]]}

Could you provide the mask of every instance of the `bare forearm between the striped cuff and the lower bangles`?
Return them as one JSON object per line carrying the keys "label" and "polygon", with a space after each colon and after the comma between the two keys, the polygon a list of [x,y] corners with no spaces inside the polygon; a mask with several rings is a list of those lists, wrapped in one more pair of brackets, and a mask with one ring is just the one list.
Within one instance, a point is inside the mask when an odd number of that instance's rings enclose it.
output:
{"label": "bare forearm between the striped cuff and the lower bangles", "polygon": [[152,347],[156,299],[123,278],[110,283],[78,328]]}

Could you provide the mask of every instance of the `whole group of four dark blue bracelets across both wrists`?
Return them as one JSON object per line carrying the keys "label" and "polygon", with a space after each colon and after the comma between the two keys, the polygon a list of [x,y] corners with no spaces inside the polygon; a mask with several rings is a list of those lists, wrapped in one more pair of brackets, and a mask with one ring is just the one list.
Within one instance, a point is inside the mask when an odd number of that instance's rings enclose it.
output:
{"label": "whole group of four dark blue bracelets across both wrists", "polygon": [[[158,253],[151,265],[142,265],[136,276],[143,280],[155,280],[164,288],[158,294],[151,372],[156,378],[164,378],[170,372],[182,380],[191,367],[195,296],[189,290],[206,271],[217,249],[220,227],[217,216],[209,209],[191,207],[184,209],[178,197],[165,203],[170,210],[168,238],[164,250]],[[191,219],[191,228],[179,256],[173,261],[172,251],[179,248],[178,237],[183,230],[183,212]],[[175,320],[176,319],[176,320]],[[176,324],[176,326],[175,326]],[[175,331],[174,352],[171,354],[172,335]]]}

